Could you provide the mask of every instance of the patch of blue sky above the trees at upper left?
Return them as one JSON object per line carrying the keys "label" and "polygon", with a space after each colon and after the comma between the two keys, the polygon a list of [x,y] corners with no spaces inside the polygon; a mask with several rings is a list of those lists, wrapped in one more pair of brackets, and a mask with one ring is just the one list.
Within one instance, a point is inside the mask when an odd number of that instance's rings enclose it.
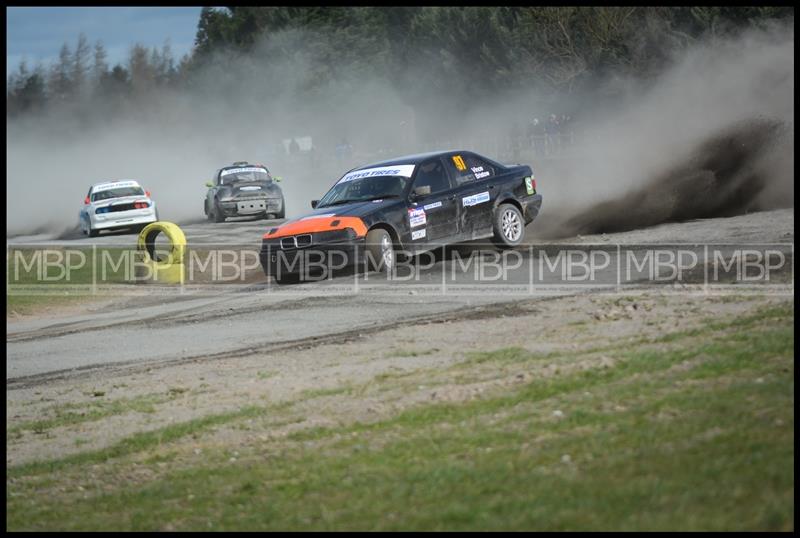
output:
{"label": "patch of blue sky above the trees at upper left", "polygon": [[83,32],[94,48],[97,40],[107,62],[124,63],[130,47],[141,43],[161,48],[170,40],[176,63],[194,44],[200,7],[7,7],[6,76],[22,58],[33,67],[58,58],[65,42],[74,50]]}

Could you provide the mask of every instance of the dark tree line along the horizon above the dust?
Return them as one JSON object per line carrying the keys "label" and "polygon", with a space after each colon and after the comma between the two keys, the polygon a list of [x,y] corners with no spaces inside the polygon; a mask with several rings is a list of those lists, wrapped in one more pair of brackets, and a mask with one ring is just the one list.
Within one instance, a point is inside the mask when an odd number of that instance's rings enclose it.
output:
{"label": "dark tree line along the horizon above the dust", "polygon": [[[611,75],[658,73],[704,39],[790,20],[793,7],[250,7],[202,9],[193,50],[133,45],[111,67],[101,42],[65,43],[50,66],[20,62],[7,79],[7,115],[104,103],[148,103],[158,89],[191,90],[215,58],[267,66],[303,54],[314,91],[354,74],[390,81],[409,103],[446,92],[453,102],[509,90],[585,91]],[[281,32],[302,39],[263,53]]]}

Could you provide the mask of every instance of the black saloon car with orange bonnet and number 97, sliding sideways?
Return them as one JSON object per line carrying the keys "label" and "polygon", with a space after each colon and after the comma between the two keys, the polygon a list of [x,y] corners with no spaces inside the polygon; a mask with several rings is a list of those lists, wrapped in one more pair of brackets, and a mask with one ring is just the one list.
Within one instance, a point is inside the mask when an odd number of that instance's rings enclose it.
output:
{"label": "black saloon car with orange bonnet and number 97, sliding sideways", "polygon": [[409,155],[347,172],[314,211],[264,234],[261,265],[279,280],[302,272],[312,253],[336,265],[367,260],[390,272],[398,250],[411,254],[492,238],[522,242],[542,196],[530,166],[502,165],[469,151]]}

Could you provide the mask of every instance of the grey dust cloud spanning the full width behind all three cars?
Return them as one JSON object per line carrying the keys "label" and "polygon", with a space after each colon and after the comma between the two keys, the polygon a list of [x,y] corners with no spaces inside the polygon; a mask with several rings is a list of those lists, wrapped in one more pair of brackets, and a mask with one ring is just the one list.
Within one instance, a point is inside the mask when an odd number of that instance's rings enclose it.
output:
{"label": "grey dust cloud spanning the full width behind all three cars", "polygon": [[[792,203],[793,26],[699,44],[646,83],[599,80],[598,91],[613,85],[624,96],[616,101],[516,92],[457,114],[446,93],[424,96],[423,109],[404,100],[396,82],[358,72],[338,71],[335,82],[316,87],[312,62],[280,53],[302,50],[302,42],[303,32],[291,30],[251,55],[220,55],[184,92],[148,94],[143,106],[108,120],[98,107],[90,118],[7,121],[7,234],[74,230],[89,186],[111,179],[140,181],[164,220],[202,220],[204,182],[238,160],[283,178],[293,217],[354,166],[450,148],[533,166],[544,196],[535,234],[619,231]],[[542,157],[525,147],[510,155],[512,122],[524,131],[533,115],[572,110],[580,113],[568,152]],[[293,137],[310,137],[314,149],[289,155],[284,141]],[[349,153],[336,150],[344,140]]]}

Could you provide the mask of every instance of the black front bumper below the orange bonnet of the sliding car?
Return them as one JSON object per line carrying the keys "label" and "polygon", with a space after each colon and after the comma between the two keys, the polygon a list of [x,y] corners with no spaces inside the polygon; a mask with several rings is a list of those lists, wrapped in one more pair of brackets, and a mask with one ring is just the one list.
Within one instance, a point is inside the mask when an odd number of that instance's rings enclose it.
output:
{"label": "black front bumper below the orange bonnet of the sliding car", "polygon": [[303,275],[334,271],[366,262],[364,239],[346,243],[321,243],[308,248],[283,249],[279,243],[264,241],[261,246],[261,267],[264,274]]}

